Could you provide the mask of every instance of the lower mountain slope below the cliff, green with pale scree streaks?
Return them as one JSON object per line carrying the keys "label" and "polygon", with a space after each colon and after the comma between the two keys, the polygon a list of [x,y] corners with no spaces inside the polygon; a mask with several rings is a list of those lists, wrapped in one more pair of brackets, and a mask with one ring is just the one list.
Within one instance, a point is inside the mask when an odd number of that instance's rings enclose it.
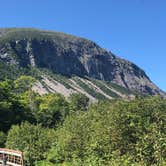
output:
{"label": "lower mountain slope below the cliff, green with pale scree streaks", "polygon": [[73,93],[82,93],[91,102],[113,98],[134,98],[134,92],[124,87],[90,77],[67,77],[55,74],[46,69],[18,68],[15,65],[6,65],[2,62],[0,63],[0,71],[1,81],[6,79],[16,80],[22,75],[32,76],[36,80],[32,86],[32,90],[40,95],[60,93],[69,98]]}

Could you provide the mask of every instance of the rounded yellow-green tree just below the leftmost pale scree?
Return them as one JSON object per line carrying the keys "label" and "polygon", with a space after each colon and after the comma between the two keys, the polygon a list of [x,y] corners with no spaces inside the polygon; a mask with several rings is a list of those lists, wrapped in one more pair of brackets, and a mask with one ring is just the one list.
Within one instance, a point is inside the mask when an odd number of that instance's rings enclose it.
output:
{"label": "rounded yellow-green tree just below the leftmost pale scree", "polygon": [[48,94],[36,96],[35,118],[44,127],[55,127],[69,113],[69,104],[62,95]]}

